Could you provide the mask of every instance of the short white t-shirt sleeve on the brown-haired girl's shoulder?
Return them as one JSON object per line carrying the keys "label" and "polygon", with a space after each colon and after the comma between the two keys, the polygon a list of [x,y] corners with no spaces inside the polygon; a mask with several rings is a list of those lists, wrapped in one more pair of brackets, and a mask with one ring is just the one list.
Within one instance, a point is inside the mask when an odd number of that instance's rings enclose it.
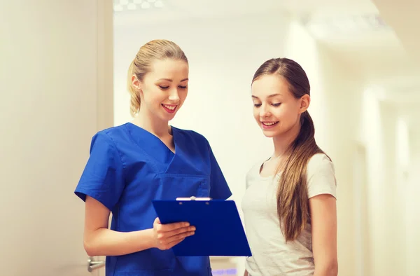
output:
{"label": "short white t-shirt sleeve on the brown-haired girl's shoulder", "polygon": [[337,181],[335,168],[328,156],[316,154],[309,160],[307,166],[308,198],[316,195],[330,194],[337,198]]}

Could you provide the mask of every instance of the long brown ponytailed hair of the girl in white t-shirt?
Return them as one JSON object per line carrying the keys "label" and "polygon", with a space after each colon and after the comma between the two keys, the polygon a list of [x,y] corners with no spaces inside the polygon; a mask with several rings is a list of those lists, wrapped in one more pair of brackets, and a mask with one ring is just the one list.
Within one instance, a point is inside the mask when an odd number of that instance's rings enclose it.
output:
{"label": "long brown ponytailed hair of the girl in white t-shirt", "polygon": [[[275,74],[288,82],[296,99],[310,95],[311,87],[304,69],[293,60],[267,60],[255,72],[253,82],[265,75]],[[276,170],[281,172],[277,190],[277,214],[286,242],[295,240],[310,222],[307,195],[307,163],[316,153],[323,153],[315,142],[315,127],[308,111],[300,116],[300,132],[287,149],[287,157]]]}

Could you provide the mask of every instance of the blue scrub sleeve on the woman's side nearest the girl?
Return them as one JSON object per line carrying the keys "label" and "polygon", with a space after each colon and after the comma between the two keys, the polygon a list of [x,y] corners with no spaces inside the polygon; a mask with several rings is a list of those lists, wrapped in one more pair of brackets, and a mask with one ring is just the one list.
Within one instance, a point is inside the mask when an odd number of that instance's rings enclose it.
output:
{"label": "blue scrub sleeve on the woman's side nearest the girl", "polygon": [[211,172],[210,172],[210,198],[215,200],[226,200],[232,195],[228,183],[226,182],[225,177],[223,176],[223,172],[221,167],[218,165],[216,157],[209,146],[209,153],[210,153],[210,165],[211,165]]}

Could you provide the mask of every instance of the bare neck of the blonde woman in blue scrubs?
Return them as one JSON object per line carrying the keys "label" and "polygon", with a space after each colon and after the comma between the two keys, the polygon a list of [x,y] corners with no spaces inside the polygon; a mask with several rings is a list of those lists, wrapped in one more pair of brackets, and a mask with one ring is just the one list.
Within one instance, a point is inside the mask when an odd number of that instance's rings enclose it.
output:
{"label": "bare neck of the blonde woman in blue scrubs", "polygon": [[147,114],[146,108],[140,109],[140,112],[137,117],[134,118],[133,123],[160,138],[167,137],[171,130],[167,121],[160,120],[159,118],[151,116],[151,114]]}

